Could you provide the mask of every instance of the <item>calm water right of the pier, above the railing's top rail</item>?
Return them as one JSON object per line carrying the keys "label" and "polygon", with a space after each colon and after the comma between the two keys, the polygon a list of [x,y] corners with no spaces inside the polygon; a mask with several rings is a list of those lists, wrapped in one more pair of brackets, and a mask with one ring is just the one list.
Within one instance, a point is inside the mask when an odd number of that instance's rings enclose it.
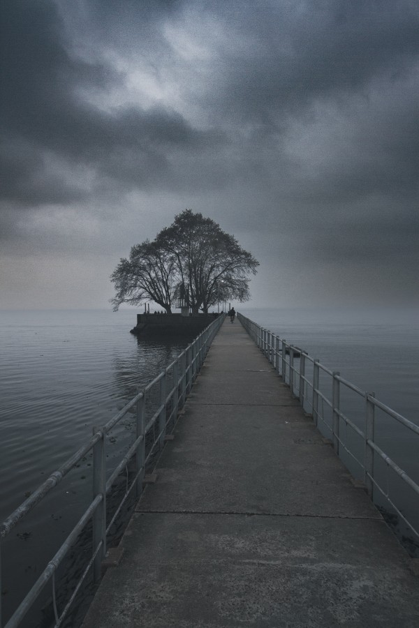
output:
{"label": "calm water right of the pier, above the railing's top rail", "polygon": [[416,311],[242,307],[240,312],[419,424]]}

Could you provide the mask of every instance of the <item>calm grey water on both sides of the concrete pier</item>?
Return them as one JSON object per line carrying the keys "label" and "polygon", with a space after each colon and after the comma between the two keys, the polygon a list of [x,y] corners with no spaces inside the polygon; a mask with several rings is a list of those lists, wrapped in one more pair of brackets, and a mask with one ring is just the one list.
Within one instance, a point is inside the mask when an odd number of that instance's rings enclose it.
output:
{"label": "calm grey water on both sides of the concrete pier", "polygon": [[[237,309],[419,423],[419,334],[411,313]],[[1,520],[192,339],[138,341],[129,334],[134,324],[135,311],[0,312]],[[399,463],[418,480],[418,444],[389,424],[383,439],[398,443]],[[40,552],[56,551],[66,520],[77,521],[91,490],[90,462],[84,465],[63,486],[61,501],[47,502],[10,539],[12,580],[33,582]],[[24,558],[15,558],[22,544]],[[4,586],[7,607],[17,587]]]}

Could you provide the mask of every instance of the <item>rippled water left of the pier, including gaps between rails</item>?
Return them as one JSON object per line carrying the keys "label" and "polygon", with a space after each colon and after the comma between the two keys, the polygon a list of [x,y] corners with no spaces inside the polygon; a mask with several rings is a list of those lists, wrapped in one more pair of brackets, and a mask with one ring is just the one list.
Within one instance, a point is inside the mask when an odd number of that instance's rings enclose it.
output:
{"label": "rippled water left of the pier, including gaps between rails", "polygon": [[[193,340],[133,336],[134,322],[135,313],[123,311],[0,313],[1,521]],[[128,414],[108,458],[120,455],[132,426]],[[91,470],[87,455],[9,535],[6,615],[87,507]],[[37,625],[34,617],[26,625]]]}

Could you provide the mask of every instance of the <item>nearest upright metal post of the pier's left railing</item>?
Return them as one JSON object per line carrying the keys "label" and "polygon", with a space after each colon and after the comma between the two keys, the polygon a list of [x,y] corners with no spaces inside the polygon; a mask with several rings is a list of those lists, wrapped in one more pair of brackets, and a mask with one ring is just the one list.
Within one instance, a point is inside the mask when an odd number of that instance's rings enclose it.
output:
{"label": "nearest upright metal post of the pier's left railing", "polygon": [[[96,434],[96,427],[93,428]],[[93,514],[93,549],[96,551],[99,543],[101,550],[96,554],[93,564],[94,582],[101,579],[101,562],[106,554],[106,467],[105,467],[105,435],[93,447],[93,498],[102,495],[102,501]]]}

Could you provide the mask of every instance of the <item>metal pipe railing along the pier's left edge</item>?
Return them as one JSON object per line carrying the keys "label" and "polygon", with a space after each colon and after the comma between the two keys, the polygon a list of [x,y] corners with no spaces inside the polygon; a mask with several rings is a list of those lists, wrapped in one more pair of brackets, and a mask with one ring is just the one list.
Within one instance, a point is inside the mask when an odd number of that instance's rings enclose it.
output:
{"label": "metal pipe railing along the pier's left edge", "polygon": [[[27,614],[34,601],[41,594],[47,583],[52,583],[52,605],[55,618],[55,626],[59,627],[66,618],[73,601],[80,590],[89,571],[93,571],[94,582],[101,578],[101,563],[106,555],[107,536],[110,532],[112,524],[115,522],[122,506],[132,493],[135,492],[136,498],[142,493],[143,481],[145,478],[145,470],[149,468],[150,463],[159,455],[165,442],[166,430],[168,426],[174,425],[179,410],[182,409],[186,401],[186,397],[191,391],[193,382],[203,365],[203,361],[214,339],[219,331],[224,316],[216,317],[199,336],[186,347],[177,359],[166,367],[145,389],[139,391],[129,403],[118,414],[115,415],[108,423],[101,428],[94,428],[94,434],[88,442],[82,445],[78,451],[68,458],[61,467],[54,471],[47,480],[25,500],[6,521],[1,524],[0,528],[0,591],[1,586],[1,544],[10,534],[15,525],[24,518],[29,511],[34,509],[45,496],[57,486],[62,479],[75,468],[78,463],[89,452],[93,454],[93,498],[84,511],[84,514],[74,526],[64,543],[61,545],[54,557],[48,562],[47,567],[43,570],[41,576],[38,577],[34,586],[29,590],[26,597],[17,607],[11,618],[8,620],[4,628],[14,628],[20,625],[24,616]],[[169,375],[171,377],[169,377]],[[168,382],[172,385],[168,389]],[[147,412],[147,402],[152,410]],[[119,461],[115,469],[110,472],[107,478],[106,465],[106,443],[112,428],[115,428],[119,421],[123,419],[128,412],[135,412],[135,440],[126,451],[122,460]],[[151,414],[151,416],[149,416]],[[147,447],[146,447],[147,444]],[[128,485],[128,463],[134,463],[134,472],[131,474],[131,484]],[[126,472],[127,482],[126,490],[122,501],[118,504],[115,513],[110,521],[107,521],[106,498],[112,490],[112,484],[122,474]],[[91,558],[82,572],[82,575],[75,585],[71,597],[66,601],[61,613],[57,608],[57,592],[56,578],[57,567],[66,557],[70,548],[75,544],[80,533],[87,528],[91,522],[93,547]],[[1,597],[1,596],[0,596]],[[1,606],[0,606],[0,627],[1,622]]]}

